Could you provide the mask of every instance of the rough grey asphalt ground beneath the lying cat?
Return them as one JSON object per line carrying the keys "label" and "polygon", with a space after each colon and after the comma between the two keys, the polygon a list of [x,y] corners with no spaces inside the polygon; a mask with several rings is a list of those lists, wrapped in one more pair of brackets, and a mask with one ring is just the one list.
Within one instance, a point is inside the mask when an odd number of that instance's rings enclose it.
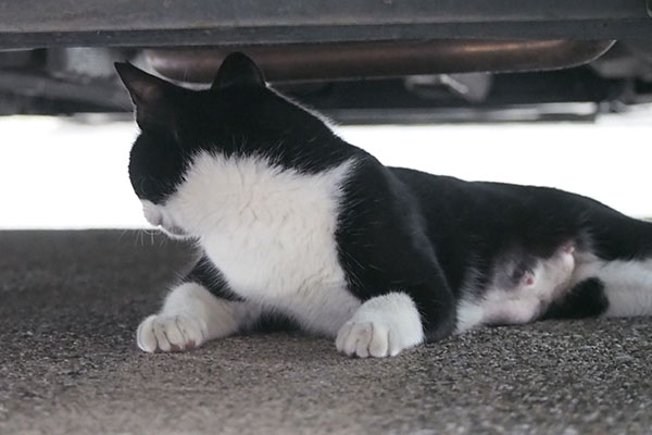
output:
{"label": "rough grey asphalt ground beneath the lying cat", "polygon": [[[142,234],[141,234],[142,235]],[[146,355],[187,248],[0,233],[0,434],[652,433],[652,320],[484,328],[354,360],[294,333]]]}

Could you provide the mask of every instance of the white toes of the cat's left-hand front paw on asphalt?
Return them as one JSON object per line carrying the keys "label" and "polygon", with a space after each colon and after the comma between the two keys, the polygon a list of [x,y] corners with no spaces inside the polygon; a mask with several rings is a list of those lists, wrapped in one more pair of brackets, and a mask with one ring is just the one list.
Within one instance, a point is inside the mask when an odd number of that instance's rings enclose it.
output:
{"label": "white toes of the cat's left-hand front paw on asphalt", "polygon": [[199,322],[184,314],[154,314],[138,326],[138,347],[146,352],[183,351],[200,346],[204,333]]}

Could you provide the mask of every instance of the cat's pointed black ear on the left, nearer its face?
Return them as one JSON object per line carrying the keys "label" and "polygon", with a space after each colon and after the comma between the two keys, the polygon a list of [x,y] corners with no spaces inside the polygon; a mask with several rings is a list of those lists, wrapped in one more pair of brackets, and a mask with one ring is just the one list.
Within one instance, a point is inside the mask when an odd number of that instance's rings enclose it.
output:
{"label": "cat's pointed black ear on the left, nearer its face", "polygon": [[140,128],[170,128],[174,124],[173,98],[179,88],[128,62],[116,62],[115,70],[131,96]]}

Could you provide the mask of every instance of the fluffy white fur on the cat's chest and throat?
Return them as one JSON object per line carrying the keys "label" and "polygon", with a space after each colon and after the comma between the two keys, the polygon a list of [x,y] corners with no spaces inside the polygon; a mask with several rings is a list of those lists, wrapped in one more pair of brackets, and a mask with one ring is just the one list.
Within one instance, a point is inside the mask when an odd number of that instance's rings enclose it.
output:
{"label": "fluffy white fur on the cat's chest and throat", "polygon": [[360,306],[335,239],[352,164],[300,174],[262,158],[202,153],[168,207],[236,293],[334,333]]}

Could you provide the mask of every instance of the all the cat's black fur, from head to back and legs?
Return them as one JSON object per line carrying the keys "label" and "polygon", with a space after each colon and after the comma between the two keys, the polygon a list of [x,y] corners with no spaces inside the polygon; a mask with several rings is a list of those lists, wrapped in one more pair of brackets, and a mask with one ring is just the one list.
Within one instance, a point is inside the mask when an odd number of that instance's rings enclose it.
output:
{"label": "all the cat's black fur, from head to back and legs", "polygon": [[[499,279],[515,283],[564,244],[604,260],[652,256],[651,224],[589,198],[386,167],[265,87],[255,65],[240,54],[225,61],[212,89],[204,91],[172,88],[128,64],[117,69],[142,128],[129,165],[141,199],[164,202],[188,157],[200,149],[266,156],[302,173],[323,172],[355,158],[336,234],[349,289],[361,300],[408,293],[430,340],[454,330],[462,291],[479,296],[500,273],[504,276]],[[513,270],[501,269],[506,260]],[[202,260],[188,279],[233,298],[212,268]],[[467,288],[471,271],[479,281]],[[607,303],[602,283],[587,279],[554,302],[547,316],[597,315]]]}

